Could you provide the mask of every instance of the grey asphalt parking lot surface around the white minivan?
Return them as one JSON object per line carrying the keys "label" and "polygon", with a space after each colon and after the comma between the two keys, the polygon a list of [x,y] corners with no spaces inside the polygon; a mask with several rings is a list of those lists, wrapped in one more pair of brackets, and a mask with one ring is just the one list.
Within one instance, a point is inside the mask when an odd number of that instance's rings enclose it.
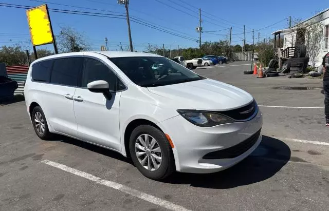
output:
{"label": "grey asphalt parking lot surface around the white minivan", "polygon": [[261,145],[209,175],[142,176],[129,159],[78,140],[42,141],[25,102],[0,106],[0,210],[328,210],[329,128],[317,79],[257,79],[249,62],[198,68],[240,87],[262,110]]}

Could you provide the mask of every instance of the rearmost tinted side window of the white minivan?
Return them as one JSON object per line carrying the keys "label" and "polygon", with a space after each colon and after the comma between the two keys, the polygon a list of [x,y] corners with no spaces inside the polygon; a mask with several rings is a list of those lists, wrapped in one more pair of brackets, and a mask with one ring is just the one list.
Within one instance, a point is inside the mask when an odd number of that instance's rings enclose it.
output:
{"label": "rearmost tinted side window of the white minivan", "polygon": [[52,60],[42,61],[32,66],[32,80],[49,82]]}

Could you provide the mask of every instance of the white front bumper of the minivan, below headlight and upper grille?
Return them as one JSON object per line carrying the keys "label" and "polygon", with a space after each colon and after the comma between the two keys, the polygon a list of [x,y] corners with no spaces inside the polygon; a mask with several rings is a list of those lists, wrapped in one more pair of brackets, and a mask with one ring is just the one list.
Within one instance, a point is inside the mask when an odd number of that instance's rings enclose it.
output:
{"label": "white front bumper of the minivan, below headlight and upper grille", "polygon": [[[158,123],[158,126],[167,133],[173,144],[173,154],[175,157],[176,170],[190,173],[211,173],[224,170],[239,163],[257,148],[262,140],[257,132],[262,128],[262,113],[246,122],[234,122],[217,125],[214,127],[198,127],[188,122],[183,117],[176,116],[169,120]],[[257,135],[254,141],[245,147],[245,150],[236,154],[236,157],[221,157],[211,159],[206,155],[211,152],[220,154],[230,151],[230,148],[243,145],[244,141]]]}

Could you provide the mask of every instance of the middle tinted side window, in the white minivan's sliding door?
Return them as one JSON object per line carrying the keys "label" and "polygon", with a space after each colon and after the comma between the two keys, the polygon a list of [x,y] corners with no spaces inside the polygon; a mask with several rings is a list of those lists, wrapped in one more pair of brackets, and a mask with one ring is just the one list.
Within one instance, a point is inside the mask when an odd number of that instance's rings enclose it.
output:
{"label": "middle tinted side window, in the white minivan's sliding door", "polygon": [[78,86],[79,71],[82,69],[82,65],[82,57],[54,60],[50,82],[67,86]]}

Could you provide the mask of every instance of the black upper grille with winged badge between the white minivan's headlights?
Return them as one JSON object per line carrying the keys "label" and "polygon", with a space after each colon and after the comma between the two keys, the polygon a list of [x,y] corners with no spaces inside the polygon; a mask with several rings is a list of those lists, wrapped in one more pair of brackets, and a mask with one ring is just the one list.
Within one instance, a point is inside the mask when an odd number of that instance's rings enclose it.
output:
{"label": "black upper grille with winged badge between the white minivan's headlights", "polygon": [[236,121],[246,121],[252,118],[258,110],[256,101],[252,101],[250,104],[237,108],[234,110],[220,111],[219,113],[224,114],[227,117],[232,118]]}

